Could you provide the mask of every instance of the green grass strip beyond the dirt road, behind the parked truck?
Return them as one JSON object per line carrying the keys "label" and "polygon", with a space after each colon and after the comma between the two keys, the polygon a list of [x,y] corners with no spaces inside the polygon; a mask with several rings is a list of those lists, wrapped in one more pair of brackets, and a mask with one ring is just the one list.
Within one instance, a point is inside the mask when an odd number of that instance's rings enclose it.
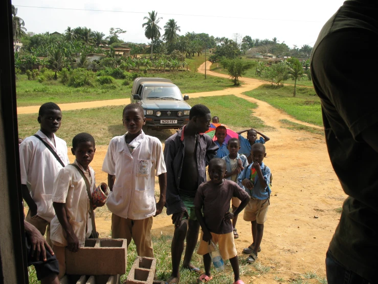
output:
{"label": "green grass strip beyond the dirt road, behind the parked truck", "polygon": [[[204,75],[189,71],[147,73],[142,76],[171,79],[183,94],[233,87],[228,79],[208,76],[205,80]],[[16,81],[17,107],[37,106],[46,102],[62,104],[130,97],[131,85],[122,86],[122,79],[115,81],[115,89],[104,86],[73,88],[61,84],[59,79],[38,83],[37,80],[28,80],[26,75],[19,75]]]}

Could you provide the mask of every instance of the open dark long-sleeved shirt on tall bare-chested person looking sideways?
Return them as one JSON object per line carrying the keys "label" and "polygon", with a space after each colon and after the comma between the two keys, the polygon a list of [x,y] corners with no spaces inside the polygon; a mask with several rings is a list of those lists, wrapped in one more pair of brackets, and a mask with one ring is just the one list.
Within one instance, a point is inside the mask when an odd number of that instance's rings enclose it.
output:
{"label": "open dark long-sleeved shirt on tall bare-chested person looking sideways", "polygon": [[[166,207],[167,214],[174,214],[186,210],[185,205],[180,197],[180,178],[183,169],[183,161],[185,154],[184,129],[180,129],[165,140],[164,161],[167,167],[167,193]],[[196,139],[197,150],[197,169],[198,169],[198,185],[206,181],[206,166],[215,156],[218,146],[207,134],[197,134]],[[184,173],[183,173],[184,174]],[[196,191],[186,192],[194,198]]]}

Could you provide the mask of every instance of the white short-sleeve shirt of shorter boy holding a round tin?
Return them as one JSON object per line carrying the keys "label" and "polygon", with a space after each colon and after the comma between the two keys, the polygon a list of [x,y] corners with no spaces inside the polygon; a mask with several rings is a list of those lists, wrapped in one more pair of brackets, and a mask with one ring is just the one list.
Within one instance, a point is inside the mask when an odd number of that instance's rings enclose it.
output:
{"label": "white short-sleeve shirt of shorter boy holding a round tin", "polygon": [[[90,182],[92,194],[96,188],[94,170],[91,166],[88,166],[88,171],[85,171],[76,160],[74,164],[84,172],[85,177]],[[91,205],[85,181],[74,166],[68,165],[59,171],[54,182],[52,201],[65,203],[70,225],[79,240],[80,247],[83,247],[85,238],[88,238],[92,233]],[[67,246],[63,228],[56,215],[52,219],[50,226],[50,238],[54,242],[54,245]],[[86,231],[85,228],[87,228]]]}

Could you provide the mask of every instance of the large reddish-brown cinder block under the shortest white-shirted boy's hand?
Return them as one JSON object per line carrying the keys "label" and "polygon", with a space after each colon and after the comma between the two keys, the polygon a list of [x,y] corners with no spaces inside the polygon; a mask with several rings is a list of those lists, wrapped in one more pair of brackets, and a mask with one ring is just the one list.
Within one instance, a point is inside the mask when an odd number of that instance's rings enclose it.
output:
{"label": "large reddish-brown cinder block under the shortest white-shirted boy's hand", "polygon": [[77,252],[65,250],[66,274],[125,274],[126,266],[126,239],[86,239],[85,246]]}

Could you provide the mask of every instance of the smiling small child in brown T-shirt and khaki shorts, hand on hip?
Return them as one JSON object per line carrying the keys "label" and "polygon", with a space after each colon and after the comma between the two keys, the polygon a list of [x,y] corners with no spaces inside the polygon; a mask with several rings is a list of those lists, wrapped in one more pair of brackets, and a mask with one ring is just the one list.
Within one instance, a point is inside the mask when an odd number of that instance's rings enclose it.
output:
{"label": "smiling small child in brown T-shirt and khaki shorts, hand on hip", "polygon": [[[212,159],[209,164],[210,180],[201,184],[195,195],[195,214],[202,228],[201,243],[197,253],[204,256],[205,266],[205,274],[201,275],[198,280],[207,282],[212,279],[210,274],[211,257],[208,249],[210,240],[212,240],[214,244],[219,242],[219,252],[222,258],[230,259],[235,275],[234,284],[244,284],[239,276],[239,261],[231,220],[234,215],[240,213],[247,206],[250,196],[235,182],[225,179],[226,172],[225,160]],[[232,197],[241,200],[239,207],[233,213],[229,212]]]}

